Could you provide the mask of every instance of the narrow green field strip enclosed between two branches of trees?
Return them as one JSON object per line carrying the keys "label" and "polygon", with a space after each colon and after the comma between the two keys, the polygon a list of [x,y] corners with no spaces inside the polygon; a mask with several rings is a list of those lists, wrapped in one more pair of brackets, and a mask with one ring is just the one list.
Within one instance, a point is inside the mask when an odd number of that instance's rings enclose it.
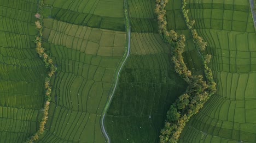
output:
{"label": "narrow green field strip enclosed between two branches of trees", "polygon": [[167,28],[168,30],[175,30],[178,34],[185,35],[185,52],[183,53],[184,62],[191,72],[202,74],[202,61],[197,54],[192,35],[183,18],[181,7],[182,1],[168,1],[166,5]]}

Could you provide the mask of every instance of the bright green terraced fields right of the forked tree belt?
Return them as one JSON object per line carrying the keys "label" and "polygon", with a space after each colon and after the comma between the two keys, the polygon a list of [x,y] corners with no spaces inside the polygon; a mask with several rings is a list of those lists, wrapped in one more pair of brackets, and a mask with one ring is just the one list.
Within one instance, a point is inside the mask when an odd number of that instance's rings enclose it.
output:
{"label": "bright green terraced fields right of the forked tree belt", "polygon": [[185,126],[180,142],[255,142],[254,31],[249,1],[188,1],[208,43],[217,94]]}

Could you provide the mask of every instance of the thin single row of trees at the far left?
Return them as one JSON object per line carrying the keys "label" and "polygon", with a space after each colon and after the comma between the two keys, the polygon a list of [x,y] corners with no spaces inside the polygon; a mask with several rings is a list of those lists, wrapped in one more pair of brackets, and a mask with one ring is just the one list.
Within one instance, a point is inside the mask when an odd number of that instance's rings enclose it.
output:
{"label": "thin single row of trees at the far left", "polygon": [[57,68],[53,64],[53,59],[49,57],[49,55],[46,53],[45,49],[42,47],[42,36],[43,36],[43,26],[42,26],[42,7],[43,7],[43,0],[39,1],[39,9],[38,13],[35,15],[37,18],[35,24],[36,28],[38,30],[38,35],[36,36],[36,39],[34,42],[36,43],[36,51],[40,58],[44,61],[46,69],[49,70],[48,77],[45,78],[44,82],[44,88],[45,88],[45,104],[43,108],[43,119],[40,121],[39,130],[35,134],[33,134],[27,142],[32,143],[33,141],[36,141],[39,139],[39,135],[42,135],[45,130],[45,124],[48,120],[48,114],[49,114],[49,108],[50,108],[50,101],[51,101],[51,85],[50,80],[51,77],[56,72]]}

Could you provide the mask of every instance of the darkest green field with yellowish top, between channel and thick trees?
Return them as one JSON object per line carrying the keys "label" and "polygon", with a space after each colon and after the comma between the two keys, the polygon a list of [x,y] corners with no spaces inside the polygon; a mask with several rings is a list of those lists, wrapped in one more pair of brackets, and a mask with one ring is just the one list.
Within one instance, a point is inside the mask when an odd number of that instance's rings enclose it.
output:
{"label": "darkest green field with yellowish top, between channel and thick trees", "polygon": [[158,142],[170,104],[185,89],[169,46],[159,34],[131,34],[131,55],[105,120],[112,142]]}

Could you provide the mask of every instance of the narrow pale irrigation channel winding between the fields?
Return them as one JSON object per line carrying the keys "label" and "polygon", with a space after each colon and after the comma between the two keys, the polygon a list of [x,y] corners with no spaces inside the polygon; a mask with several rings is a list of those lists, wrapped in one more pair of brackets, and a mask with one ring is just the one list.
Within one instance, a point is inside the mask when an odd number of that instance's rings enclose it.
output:
{"label": "narrow pale irrigation channel winding between the fields", "polygon": [[126,49],[125,49],[123,59],[121,60],[120,64],[117,67],[117,69],[119,69],[119,70],[115,72],[115,76],[114,76],[114,79],[113,79],[114,83],[112,85],[112,90],[110,91],[110,94],[108,96],[108,100],[107,100],[107,103],[104,107],[103,115],[102,115],[102,118],[101,118],[101,130],[102,130],[102,132],[103,132],[103,134],[104,134],[108,143],[110,143],[110,138],[109,138],[108,133],[106,132],[106,129],[105,129],[105,126],[104,126],[104,119],[105,119],[105,116],[107,114],[109,105],[112,102],[112,99],[114,97],[115,89],[117,89],[118,80],[119,80],[119,77],[120,77],[121,70],[123,69],[123,67],[124,67],[124,65],[127,61],[127,58],[130,55],[130,49],[131,49],[131,47],[130,47],[131,26],[130,26],[130,21],[129,21],[129,11],[128,11],[127,0],[124,0],[124,15],[125,15],[125,27],[126,27]]}

